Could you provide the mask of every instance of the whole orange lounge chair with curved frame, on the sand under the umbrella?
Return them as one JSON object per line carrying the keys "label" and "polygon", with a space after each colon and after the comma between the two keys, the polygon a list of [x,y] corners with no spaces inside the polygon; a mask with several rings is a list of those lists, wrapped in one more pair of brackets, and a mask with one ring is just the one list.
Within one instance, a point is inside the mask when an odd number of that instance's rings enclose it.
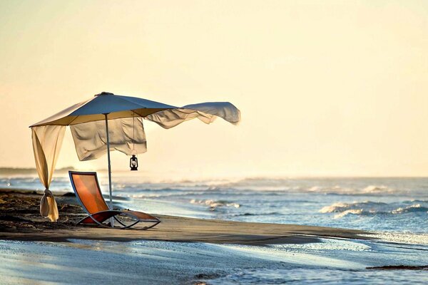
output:
{"label": "whole orange lounge chair with curved frame, on the sand under the umbrella", "polygon": [[[78,221],[77,224],[99,224],[102,227],[111,228],[111,224],[103,224],[103,222],[113,217],[121,224],[121,227],[117,227],[118,229],[128,229],[139,222],[151,223],[148,227],[142,228],[150,229],[161,222],[160,219],[143,212],[109,209],[106,200],[104,200],[101,194],[96,172],[69,171],[68,175],[70,175],[71,186],[73,186],[78,202],[81,203],[81,206],[88,214],[88,217],[84,217]],[[119,214],[131,217],[133,219],[132,224],[123,224],[123,222],[116,217]]]}

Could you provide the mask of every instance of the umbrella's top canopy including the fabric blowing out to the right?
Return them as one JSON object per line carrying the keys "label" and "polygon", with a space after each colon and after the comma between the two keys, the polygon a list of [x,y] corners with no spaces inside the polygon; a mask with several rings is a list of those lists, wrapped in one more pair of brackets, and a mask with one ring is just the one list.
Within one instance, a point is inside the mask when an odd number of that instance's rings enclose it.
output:
{"label": "umbrella's top canopy including the fabric blowing out to the right", "polygon": [[103,92],[51,115],[31,125],[30,128],[41,125],[77,125],[94,122],[104,120],[104,114],[108,114],[108,120],[138,116],[152,120],[163,128],[172,128],[184,120],[193,118],[200,118],[204,123],[211,123],[215,117],[223,118],[233,124],[240,121],[238,108],[228,102],[207,102],[176,107],[143,98]]}

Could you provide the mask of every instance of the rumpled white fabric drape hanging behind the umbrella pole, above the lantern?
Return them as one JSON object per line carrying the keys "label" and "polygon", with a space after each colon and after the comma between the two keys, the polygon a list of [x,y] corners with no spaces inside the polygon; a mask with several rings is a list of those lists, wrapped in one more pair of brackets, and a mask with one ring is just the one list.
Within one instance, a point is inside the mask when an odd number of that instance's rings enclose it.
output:
{"label": "rumpled white fabric drape hanging behind the umbrella pole, above the lantern", "polygon": [[[106,122],[96,121],[71,125],[79,160],[95,160],[107,153]],[[110,150],[126,155],[147,151],[146,133],[141,117],[108,120]]]}

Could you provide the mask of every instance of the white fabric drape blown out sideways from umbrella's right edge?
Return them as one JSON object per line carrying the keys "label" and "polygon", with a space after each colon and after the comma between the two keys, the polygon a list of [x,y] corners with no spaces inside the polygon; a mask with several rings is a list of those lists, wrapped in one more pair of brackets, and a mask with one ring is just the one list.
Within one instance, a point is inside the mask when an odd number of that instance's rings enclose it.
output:
{"label": "white fabric drape blown out sideways from umbrella's right edge", "polygon": [[207,102],[163,110],[148,115],[145,119],[161,125],[162,128],[169,129],[194,118],[209,124],[213,123],[217,117],[236,125],[240,122],[240,110],[229,102]]}

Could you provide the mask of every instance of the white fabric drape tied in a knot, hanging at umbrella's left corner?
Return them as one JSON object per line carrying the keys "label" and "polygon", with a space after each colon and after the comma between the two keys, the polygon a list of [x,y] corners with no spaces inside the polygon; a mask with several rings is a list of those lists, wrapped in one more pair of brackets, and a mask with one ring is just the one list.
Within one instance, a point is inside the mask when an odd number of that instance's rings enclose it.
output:
{"label": "white fabric drape tied in a knot, hanging at umbrella's left corner", "polygon": [[58,206],[55,197],[49,190],[52,174],[64,137],[66,127],[62,125],[45,125],[31,128],[34,160],[41,183],[46,188],[40,201],[40,214],[49,217],[51,222],[58,219]]}

